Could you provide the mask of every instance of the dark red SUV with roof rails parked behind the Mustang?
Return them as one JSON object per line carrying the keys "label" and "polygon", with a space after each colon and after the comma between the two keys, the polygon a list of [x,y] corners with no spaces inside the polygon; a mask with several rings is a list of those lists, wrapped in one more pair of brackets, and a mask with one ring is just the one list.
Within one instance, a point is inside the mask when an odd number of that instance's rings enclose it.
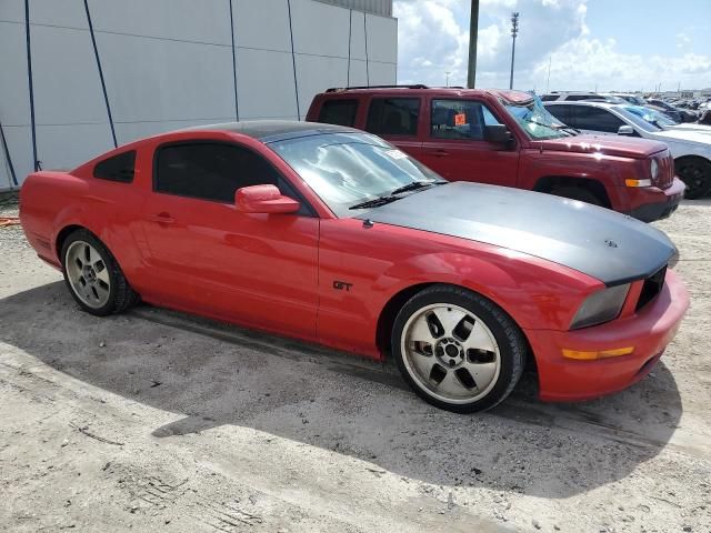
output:
{"label": "dark red SUV with roof rails parked behind the Mustang", "polygon": [[684,192],[664,143],[579,134],[520,91],[329,89],[307,120],[375,133],[450,181],[548,192],[648,222],[669,217]]}

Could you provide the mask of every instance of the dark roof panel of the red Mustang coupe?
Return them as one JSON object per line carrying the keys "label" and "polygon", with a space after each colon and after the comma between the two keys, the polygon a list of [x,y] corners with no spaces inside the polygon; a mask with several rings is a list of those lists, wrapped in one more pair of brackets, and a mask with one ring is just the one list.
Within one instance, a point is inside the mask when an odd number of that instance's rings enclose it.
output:
{"label": "dark roof panel of the red Mustang coupe", "polygon": [[318,135],[322,133],[362,133],[360,130],[337,124],[319,122],[300,122],[296,120],[248,120],[240,122],[223,122],[219,124],[197,125],[180,131],[227,131],[251,137],[261,142],[273,142],[299,137]]}

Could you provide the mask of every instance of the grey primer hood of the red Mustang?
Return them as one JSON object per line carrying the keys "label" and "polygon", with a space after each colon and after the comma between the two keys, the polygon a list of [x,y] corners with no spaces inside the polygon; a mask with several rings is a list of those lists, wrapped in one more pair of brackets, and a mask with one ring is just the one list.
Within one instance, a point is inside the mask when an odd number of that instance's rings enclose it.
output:
{"label": "grey primer hood of the red Mustang", "polygon": [[358,218],[508,248],[608,285],[647,278],[675,253],[664,233],[631,217],[550,194],[478,183],[433,187]]}

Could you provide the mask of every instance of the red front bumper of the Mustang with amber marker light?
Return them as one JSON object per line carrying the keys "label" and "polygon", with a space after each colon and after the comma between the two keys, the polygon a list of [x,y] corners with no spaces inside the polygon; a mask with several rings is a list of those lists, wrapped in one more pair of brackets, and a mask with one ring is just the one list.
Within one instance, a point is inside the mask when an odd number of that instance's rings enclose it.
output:
{"label": "red front bumper of the Mustang with amber marker light", "polygon": [[[659,295],[631,316],[582,330],[524,330],[535,356],[541,399],[588,400],[637,383],[661,358],[688,308],[683,283],[668,271]],[[593,361],[562,355],[563,349],[598,351],[621,346],[634,346],[634,352]]]}

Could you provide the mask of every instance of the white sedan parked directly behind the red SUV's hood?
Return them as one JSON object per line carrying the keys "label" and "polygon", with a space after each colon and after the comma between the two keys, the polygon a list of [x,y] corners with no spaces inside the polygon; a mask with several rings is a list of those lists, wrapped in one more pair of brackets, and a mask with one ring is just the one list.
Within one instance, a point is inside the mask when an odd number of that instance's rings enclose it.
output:
{"label": "white sedan parked directly behind the red SUV's hood", "polygon": [[555,118],[585,133],[641,137],[669,145],[677,174],[687,184],[687,198],[711,191],[711,138],[698,131],[664,130],[630,111],[629,105],[603,102],[547,102]]}

